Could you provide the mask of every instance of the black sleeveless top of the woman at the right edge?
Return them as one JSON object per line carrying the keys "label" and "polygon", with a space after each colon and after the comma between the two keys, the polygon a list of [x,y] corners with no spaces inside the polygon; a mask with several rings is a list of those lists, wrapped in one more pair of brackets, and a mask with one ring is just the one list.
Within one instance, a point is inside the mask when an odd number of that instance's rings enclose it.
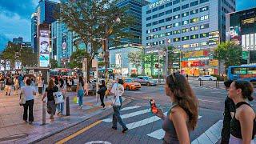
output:
{"label": "black sleeveless top of the woman at the right edge", "polygon": [[[238,109],[239,106],[242,106],[242,105],[248,105],[250,106],[249,103],[247,102],[238,102],[235,106],[236,106],[236,109]],[[251,107],[251,106],[250,106]],[[242,132],[241,132],[241,125],[240,125],[240,122],[238,121],[238,119],[235,118],[235,114],[234,114],[234,117],[231,119],[230,121],[230,133],[236,137],[236,138],[241,138],[242,139]],[[254,139],[254,135],[256,133],[256,121],[255,121],[255,118],[254,118],[254,128],[253,128],[253,135],[252,135],[252,139]]]}

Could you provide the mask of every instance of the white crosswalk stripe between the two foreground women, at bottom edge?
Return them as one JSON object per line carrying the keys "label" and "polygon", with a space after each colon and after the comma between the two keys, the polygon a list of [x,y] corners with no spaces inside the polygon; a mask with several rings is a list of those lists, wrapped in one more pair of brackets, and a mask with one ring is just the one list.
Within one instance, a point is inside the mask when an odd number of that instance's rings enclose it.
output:
{"label": "white crosswalk stripe between the two foreground women, at bottom edge", "polygon": [[222,120],[216,122],[213,126],[210,126],[208,130],[206,130],[203,134],[201,134],[198,138],[194,139],[191,144],[198,143],[209,143],[215,144],[218,142],[218,139],[221,138],[222,133]]}

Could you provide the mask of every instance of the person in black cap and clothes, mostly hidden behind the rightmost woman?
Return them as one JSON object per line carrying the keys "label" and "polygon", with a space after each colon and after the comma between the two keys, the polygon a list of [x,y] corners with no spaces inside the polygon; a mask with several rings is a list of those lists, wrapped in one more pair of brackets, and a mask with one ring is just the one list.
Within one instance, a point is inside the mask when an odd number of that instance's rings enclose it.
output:
{"label": "person in black cap and clothes, mostly hidden behind the rightmost woman", "polygon": [[[228,80],[224,82],[226,90],[230,88],[230,85],[233,81]],[[225,100],[225,109],[224,109],[224,118],[223,118],[223,126],[222,126],[222,144],[228,144],[230,140],[230,121],[234,116],[235,105],[234,102],[229,96],[226,96]]]}

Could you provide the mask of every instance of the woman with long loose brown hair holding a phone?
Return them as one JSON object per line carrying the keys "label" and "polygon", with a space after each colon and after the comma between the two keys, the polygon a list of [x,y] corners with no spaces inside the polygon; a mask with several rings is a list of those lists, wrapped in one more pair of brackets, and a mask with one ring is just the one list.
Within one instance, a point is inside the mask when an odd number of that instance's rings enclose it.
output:
{"label": "woman with long loose brown hair holding a phone", "polygon": [[186,78],[178,73],[166,78],[165,91],[172,102],[169,112],[165,115],[158,108],[154,112],[163,120],[163,143],[190,143],[190,131],[198,122],[198,99]]}

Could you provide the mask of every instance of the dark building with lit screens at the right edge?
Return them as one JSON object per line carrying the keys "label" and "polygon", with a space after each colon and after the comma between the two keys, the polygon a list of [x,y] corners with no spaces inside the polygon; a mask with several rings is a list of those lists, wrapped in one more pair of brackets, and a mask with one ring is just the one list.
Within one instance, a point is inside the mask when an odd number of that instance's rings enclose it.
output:
{"label": "dark building with lit screens at the right edge", "polygon": [[226,14],[226,40],[242,46],[242,64],[256,63],[256,7]]}

